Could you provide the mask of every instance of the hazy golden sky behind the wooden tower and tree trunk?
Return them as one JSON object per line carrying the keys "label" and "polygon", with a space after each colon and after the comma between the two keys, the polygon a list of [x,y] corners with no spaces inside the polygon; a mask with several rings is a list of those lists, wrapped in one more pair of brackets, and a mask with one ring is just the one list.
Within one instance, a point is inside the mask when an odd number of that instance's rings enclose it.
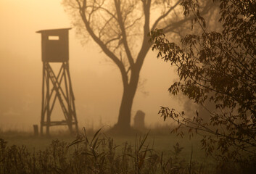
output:
{"label": "hazy golden sky behind the wooden tower and tree trunk", "polygon": [[[69,28],[70,17],[57,0],[0,1],[0,128],[32,130],[41,117],[41,36],[37,30]],[[70,30],[70,73],[79,125],[94,127],[117,122],[123,92],[120,72],[96,44],[81,46]],[[146,125],[162,123],[160,106],[181,108],[168,94],[176,77],[170,65],[149,51],[133,102],[146,113]],[[59,120],[64,116],[55,115]]]}

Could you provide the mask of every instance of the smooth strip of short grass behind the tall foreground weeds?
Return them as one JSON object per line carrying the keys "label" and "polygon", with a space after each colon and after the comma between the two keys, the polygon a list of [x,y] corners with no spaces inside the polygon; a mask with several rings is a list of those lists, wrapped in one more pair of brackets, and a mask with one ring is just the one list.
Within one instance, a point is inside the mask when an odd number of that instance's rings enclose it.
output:
{"label": "smooth strip of short grass behind the tall foreground weeds", "polygon": [[[87,135],[88,139],[93,138],[96,130],[91,130]],[[136,139],[142,138],[146,133],[138,133],[134,136],[108,136],[104,132],[100,133],[102,137],[110,137],[114,139],[115,145],[122,145],[126,142],[128,144],[135,144]],[[33,133],[24,133],[17,131],[1,132],[0,138],[3,138],[8,142],[9,146],[28,146],[29,149],[44,150],[47,146],[51,144],[51,141],[54,139],[59,139],[59,141],[65,141],[70,143],[75,140],[75,136],[70,136],[67,132],[55,132],[52,133],[50,137],[46,136],[33,136]],[[200,137],[194,136],[189,138],[184,136],[183,138],[176,136],[175,134],[169,133],[168,130],[162,131],[162,133],[156,133],[154,130],[149,130],[149,135],[146,138],[146,144],[149,144],[149,147],[155,149],[157,152],[170,152],[173,149],[173,146],[177,143],[182,146],[183,155],[191,154],[191,148],[194,152],[198,154],[198,157],[204,157],[204,153],[200,147]]]}

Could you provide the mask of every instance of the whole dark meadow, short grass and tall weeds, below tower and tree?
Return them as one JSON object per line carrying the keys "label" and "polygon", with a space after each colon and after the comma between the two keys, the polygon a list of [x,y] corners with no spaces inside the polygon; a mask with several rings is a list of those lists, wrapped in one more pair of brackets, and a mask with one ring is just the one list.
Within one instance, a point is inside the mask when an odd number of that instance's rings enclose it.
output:
{"label": "whole dark meadow, short grass and tall weeds, below tower and tree", "polygon": [[218,162],[205,156],[199,136],[180,138],[168,128],[125,137],[87,130],[50,137],[1,132],[0,138],[0,173],[221,172]]}

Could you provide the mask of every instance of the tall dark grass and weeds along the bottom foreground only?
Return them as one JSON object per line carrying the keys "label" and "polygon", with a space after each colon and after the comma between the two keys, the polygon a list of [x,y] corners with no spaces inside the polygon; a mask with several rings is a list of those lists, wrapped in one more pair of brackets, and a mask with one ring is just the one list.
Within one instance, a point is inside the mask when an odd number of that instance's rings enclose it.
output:
{"label": "tall dark grass and weeds along the bottom foreground only", "polygon": [[0,173],[202,173],[180,157],[179,144],[171,154],[159,153],[146,143],[147,136],[117,146],[100,130],[91,139],[84,131],[70,144],[56,139],[45,150],[32,152],[0,139]]}

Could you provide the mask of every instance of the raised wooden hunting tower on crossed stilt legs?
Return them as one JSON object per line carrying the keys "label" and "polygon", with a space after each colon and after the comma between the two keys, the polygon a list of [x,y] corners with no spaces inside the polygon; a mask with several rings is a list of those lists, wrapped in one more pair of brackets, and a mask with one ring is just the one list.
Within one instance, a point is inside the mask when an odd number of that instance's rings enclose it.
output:
{"label": "raised wooden hunting tower on crossed stilt legs", "polygon": [[[46,126],[46,135],[53,125],[67,125],[70,133],[78,131],[78,120],[75,113],[75,97],[70,80],[68,30],[39,30],[41,33],[41,50],[43,62],[43,87],[41,108],[41,135]],[[59,64],[55,74],[50,63]],[[51,120],[51,113],[56,101],[59,101],[65,120]],[[75,130],[73,128],[75,125]]]}

